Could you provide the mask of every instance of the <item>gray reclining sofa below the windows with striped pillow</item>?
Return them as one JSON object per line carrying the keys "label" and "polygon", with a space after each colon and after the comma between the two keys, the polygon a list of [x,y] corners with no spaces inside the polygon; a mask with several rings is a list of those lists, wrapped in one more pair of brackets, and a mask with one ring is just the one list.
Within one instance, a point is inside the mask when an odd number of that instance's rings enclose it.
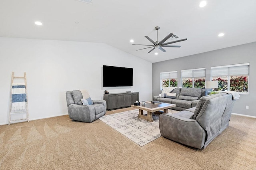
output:
{"label": "gray reclining sofa below the windows with striped pillow", "polygon": [[[177,87],[170,91],[170,93],[176,93],[176,97],[168,98],[162,94],[162,96],[154,96],[154,101],[161,101],[163,103],[175,104],[176,107],[172,109],[177,111],[183,111],[192,107],[195,107],[199,99],[202,96],[205,96],[206,89],[197,89],[197,88],[185,88]],[[168,93],[167,93],[168,94]]]}

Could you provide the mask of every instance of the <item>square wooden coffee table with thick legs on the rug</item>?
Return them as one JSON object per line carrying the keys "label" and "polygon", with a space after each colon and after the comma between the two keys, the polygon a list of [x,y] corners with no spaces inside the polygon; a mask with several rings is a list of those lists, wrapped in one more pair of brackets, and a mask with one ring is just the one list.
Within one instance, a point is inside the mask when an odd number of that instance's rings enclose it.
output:
{"label": "square wooden coffee table with thick legs on the rug", "polygon": [[[168,109],[175,107],[176,105],[174,104],[169,104],[169,103],[160,103],[160,104],[153,104],[151,102],[146,103],[145,105],[140,105],[140,106],[134,106],[131,105],[131,107],[134,107],[136,109],[139,109],[139,115],[138,117],[141,119],[145,119],[146,121],[150,121],[153,122],[153,118],[152,118],[152,113],[168,113]],[[159,112],[163,110],[163,112]],[[143,111],[147,111],[148,114],[144,115]]]}

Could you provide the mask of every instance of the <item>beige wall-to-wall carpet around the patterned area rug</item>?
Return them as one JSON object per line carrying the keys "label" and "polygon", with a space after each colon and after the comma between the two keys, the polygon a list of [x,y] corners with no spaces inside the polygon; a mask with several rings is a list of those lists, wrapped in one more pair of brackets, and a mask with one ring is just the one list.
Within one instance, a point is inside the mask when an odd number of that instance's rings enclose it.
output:
{"label": "beige wall-to-wall carpet around the patterned area rug", "polygon": [[138,146],[100,120],[81,123],[68,115],[2,125],[0,169],[255,170],[256,119],[232,115],[204,150],[163,137]]}

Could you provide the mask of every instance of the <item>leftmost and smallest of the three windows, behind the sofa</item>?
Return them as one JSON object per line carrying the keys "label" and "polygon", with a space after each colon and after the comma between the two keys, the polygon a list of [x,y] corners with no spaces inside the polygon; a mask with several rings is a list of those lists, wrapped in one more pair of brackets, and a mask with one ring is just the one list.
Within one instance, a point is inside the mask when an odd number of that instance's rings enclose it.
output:
{"label": "leftmost and smallest of the three windows, behind the sofa", "polygon": [[164,89],[164,87],[177,87],[177,77],[178,71],[160,73],[160,90]]}

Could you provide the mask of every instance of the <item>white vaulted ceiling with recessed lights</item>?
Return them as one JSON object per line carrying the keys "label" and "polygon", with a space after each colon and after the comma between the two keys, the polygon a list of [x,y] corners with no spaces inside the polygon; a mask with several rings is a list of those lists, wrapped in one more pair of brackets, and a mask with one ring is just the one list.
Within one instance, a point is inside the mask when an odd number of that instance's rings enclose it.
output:
{"label": "white vaulted ceiling with recessed lights", "polygon": [[[106,43],[152,63],[256,42],[256,0],[206,0],[203,8],[200,2],[0,0],[0,37]],[[170,44],[181,47],[165,47],[166,52],[136,51],[147,46],[130,40],[152,45],[144,36],[156,41],[156,26],[158,40],[170,33],[188,40]]]}

